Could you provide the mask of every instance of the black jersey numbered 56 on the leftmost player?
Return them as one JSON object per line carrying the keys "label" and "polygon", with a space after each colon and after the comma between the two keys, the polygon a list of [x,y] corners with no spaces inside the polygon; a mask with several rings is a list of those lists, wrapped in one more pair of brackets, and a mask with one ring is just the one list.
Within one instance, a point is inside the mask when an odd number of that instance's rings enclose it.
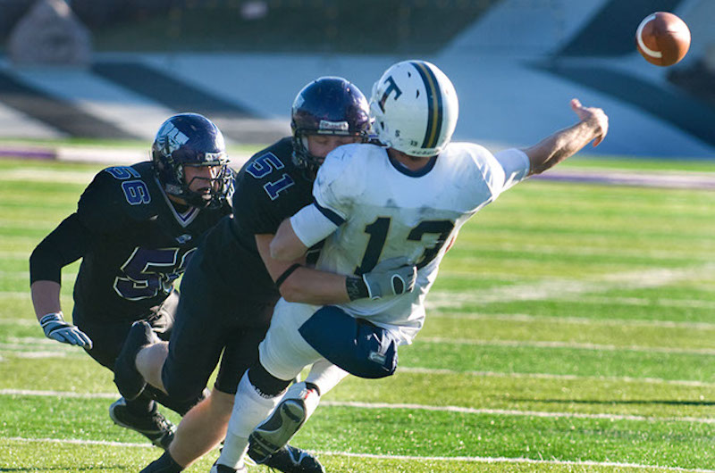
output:
{"label": "black jersey numbered 56 on the leftmost player", "polygon": [[[77,212],[36,253],[63,254],[59,268],[82,257],[74,285],[75,323],[139,319],[172,292],[201,236],[230,212],[228,204],[179,212],[151,162],[107,168],[85,189]],[[37,261],[33,268],[30,260],[30,278],[57,280],[57,266]]]}

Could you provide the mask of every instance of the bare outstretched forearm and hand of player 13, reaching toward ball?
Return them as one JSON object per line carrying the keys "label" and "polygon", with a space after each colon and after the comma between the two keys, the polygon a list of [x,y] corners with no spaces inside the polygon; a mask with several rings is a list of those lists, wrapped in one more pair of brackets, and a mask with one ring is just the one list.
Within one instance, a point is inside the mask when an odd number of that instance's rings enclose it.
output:
{"label": "bare outstretched forearm and hand of player 13, reaching toward ball", "polygon": [[598,146],[609,130],[609,117],[600,108],[585,107],[574,98],[571,109],[580,119],[568,129],[561,129],[536,145],[523,150],[529,157],[529,175],[541,174],[576,154],[593,141]]}

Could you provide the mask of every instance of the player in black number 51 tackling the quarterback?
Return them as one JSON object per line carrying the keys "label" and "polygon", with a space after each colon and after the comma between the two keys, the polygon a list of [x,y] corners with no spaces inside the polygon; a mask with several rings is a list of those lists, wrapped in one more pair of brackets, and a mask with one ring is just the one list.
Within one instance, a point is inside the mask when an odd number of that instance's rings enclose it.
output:
{"label": "player in black number 51 tackling the quarterback", "polygon": [[[170,448],[143,471],[181,471],[223,440],[238,382],[257,362],[258,344],[281,296],[305,303],[347,303],[366,297],[366,284],[387,285],[391,269],[356,283],[355,278],[311,269],[309,261],[275,261],[269,250],[281,221],[312,202],[315,171],[325,155],[339,145],[366,141],[369,128],[366,98],[349,81],[328,77],[304,87],[292,107],[292,137],[258,152],[242,167],[232,218],[208,233],[190,261],[169,343],[147,346],[147,327],[132,328],[114,370],[125,397],[139,394],[148,382],[177,398],[192,398],[221,359],[211,395],[181,419]],[[318,396],[346,375],[338,369],[298,385]],[[271,386],[270,394],[285,387]],[[315,458],[290,446],[265,465],[324,471]]]}

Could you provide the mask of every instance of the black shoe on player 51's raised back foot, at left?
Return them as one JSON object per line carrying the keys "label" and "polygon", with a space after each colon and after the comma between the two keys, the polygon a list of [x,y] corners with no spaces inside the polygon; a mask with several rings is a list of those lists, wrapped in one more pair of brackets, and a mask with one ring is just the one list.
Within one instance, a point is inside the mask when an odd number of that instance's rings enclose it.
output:
{"label": "black shoe on player 51's raised back foot, at left", "polygon": [[148,344],[156,342],[157,337],[151,326],[144,320],[131,324],[127,339],[124,340],[122,351],[114,361],[114,384],[124,399],[133,401],[147,387],[147,381],[137,370],[135,361],[137,353]]}

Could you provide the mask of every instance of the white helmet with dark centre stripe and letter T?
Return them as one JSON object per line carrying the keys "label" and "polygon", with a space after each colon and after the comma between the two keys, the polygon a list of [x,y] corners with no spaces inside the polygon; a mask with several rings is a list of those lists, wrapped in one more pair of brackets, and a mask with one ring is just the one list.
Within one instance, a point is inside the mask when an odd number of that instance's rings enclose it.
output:
{"label": "white helmet with dark centre stripe and letter T", "polygon": [[384,145],[412,156],[433,156],[450,143],[457,126],[457,92],[433,63],[398,62],[374,83],[370,114]]}

